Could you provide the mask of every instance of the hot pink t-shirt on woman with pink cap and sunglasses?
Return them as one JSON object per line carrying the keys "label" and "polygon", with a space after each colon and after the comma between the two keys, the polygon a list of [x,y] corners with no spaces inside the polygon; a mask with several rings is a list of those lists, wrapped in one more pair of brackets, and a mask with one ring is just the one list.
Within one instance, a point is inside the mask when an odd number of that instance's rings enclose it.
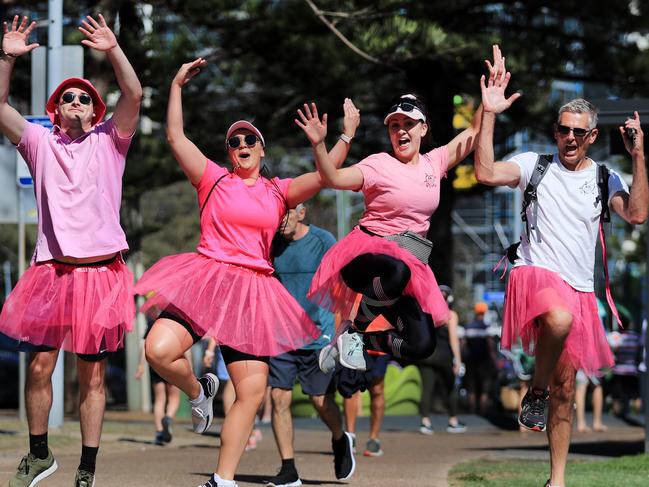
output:
{"label": "hot pink t-shirt on woman with pink cap and sunglasses", "polygon": [[271,244],[286,212],[291,181],[260,177],[248,186],[239,176],[208,160],[196,185],[199,208],[205,206],[196,250],[220,262],[271,274]]}

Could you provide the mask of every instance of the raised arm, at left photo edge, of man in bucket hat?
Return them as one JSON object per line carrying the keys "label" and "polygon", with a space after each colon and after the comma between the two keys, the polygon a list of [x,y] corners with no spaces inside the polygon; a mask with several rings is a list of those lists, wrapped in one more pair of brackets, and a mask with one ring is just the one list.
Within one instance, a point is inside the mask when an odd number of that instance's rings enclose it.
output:
{"label": "raised arm, at left photo edge, of man in bucket hat", "polygon": [[29,34],[36,27],[36,22],[27,25],[27,17],[18,25],[19,17],[14,16],[11,29],[4,22],[4,37],[2,38],[2,55],[0,55],[0,131],[7,136],[12,144],[18,144],[25,130],[25,119],[18,111],[9,105],[9,85],[11,72],[16,58],[38,47],[38,44],[27,45]]}

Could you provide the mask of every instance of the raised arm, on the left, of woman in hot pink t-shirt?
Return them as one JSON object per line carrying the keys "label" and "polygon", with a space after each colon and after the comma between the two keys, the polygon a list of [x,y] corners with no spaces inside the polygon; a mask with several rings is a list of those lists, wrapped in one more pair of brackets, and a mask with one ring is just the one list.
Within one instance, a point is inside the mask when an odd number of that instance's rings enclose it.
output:
{"label": "raised arm, on the left, of woman in hot pink t-shirt", "polygon": [[207,157],[185,135],[183,126],[182,88],[207,62],[198,58],[183,64],[171,82],[167,106],[167,141],[181,169],[193,185],[203,177]]}

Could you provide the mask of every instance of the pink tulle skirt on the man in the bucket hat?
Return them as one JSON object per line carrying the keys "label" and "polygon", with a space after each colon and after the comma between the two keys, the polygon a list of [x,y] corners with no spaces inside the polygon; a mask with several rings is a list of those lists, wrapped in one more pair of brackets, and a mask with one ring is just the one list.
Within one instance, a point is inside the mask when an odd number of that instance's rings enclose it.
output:
{"label": "pink tulle skirt on the man in the bucket hat", "polygon": [[0,332],[80,354],[114,352],[134,317],[133,275],[121,256],[102,265],[47,261],[16,284],[0,313]]}

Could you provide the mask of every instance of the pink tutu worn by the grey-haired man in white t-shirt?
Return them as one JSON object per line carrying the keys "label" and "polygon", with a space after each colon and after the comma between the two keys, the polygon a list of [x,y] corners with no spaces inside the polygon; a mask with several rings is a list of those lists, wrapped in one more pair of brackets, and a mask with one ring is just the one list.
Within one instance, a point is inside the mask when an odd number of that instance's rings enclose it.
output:
{"label": "pink tutu worn by the grey-haired man in white t-shirt", "polygon": [[597,313],[595,293],[577,291],[558,274],[536,266],[512,270],[507,284],[502,346],[511,349],[520,338],[525,353],[534,355],[539,327],[536,318],[561,308],[573,316],[560,362],[587,375],[601,375],[614,364],[604,327]]}

